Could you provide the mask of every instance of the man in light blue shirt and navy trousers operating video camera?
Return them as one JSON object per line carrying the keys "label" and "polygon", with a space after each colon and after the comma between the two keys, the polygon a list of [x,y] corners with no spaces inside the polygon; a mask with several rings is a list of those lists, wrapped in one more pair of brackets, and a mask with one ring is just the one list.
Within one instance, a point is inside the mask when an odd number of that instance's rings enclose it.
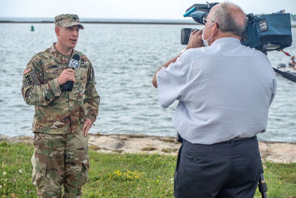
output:
{"label": "man in light blue shirt and navy trousers operating video camera", "polygon": [[266,130],[276,75],[266,55],[240,43],[242,9],[220,3],[204,20],[152,79],[163,108],[179,100],[175,197],[251,198],[261,169],[256,135]]}

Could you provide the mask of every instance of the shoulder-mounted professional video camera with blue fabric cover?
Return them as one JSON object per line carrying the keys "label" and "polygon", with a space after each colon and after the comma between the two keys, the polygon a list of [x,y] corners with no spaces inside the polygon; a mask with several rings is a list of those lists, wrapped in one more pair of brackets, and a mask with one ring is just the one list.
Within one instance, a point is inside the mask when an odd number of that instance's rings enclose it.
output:
{"label": "shoulder-mounted professional video camera with blue fabric cover", "polygon": [[[205,25],[203,18],[207,17],[210,9],[219,3],[194,4],[186,10],[184,17],[192,17],[197,23]],[[269,14],[254,16],[246,15],[247,27],[242,35],[241,43],[254,47],[264,53],[282,50],[292,45],[290,14],[284,10]],[[194,28],[182,28],[181,44],[187,45],[190,33]]]}

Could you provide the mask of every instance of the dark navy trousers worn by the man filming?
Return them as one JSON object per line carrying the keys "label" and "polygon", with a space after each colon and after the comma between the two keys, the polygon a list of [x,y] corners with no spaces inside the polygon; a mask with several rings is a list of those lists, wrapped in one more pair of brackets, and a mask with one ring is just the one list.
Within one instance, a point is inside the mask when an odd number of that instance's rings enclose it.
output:
{"label": "dark navy trousers worn by the man filming", "polygon": [[253,198],[261,171],[257,137],[203,145],[183,140],[175,198]]}

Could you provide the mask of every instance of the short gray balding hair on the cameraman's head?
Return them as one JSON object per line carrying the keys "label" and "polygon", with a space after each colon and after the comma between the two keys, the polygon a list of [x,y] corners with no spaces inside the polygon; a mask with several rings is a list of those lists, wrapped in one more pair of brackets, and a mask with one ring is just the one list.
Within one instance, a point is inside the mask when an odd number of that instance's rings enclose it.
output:
{"label": "short gray balding hair on the cameraman's head", "polygon": [[[236,7],[236,9],[233,9],[234,6]],[[231,11],[239,11],[239,9],[242,13],[244,13],[239,6],[233,3],[221,3],[219,8],[213,10],[214,12],[211,20],[218,23],[221,32],[231,32],[237,36],[242,36],[247,26],[247,17],[244,18],[243,24],[239,24],[234,17],[236,14],[239,13],[231,13]]]}

